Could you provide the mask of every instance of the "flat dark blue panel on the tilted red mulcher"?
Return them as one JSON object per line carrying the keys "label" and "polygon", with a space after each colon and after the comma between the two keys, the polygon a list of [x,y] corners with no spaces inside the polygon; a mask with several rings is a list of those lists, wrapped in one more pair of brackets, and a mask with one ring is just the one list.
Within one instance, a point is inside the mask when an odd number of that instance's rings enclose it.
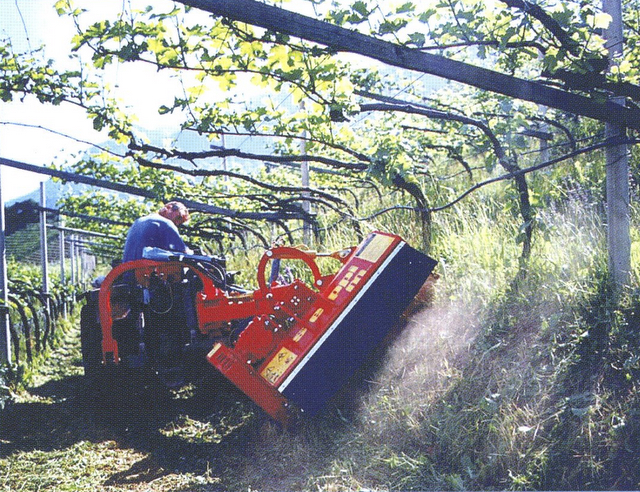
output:
{"label": "flat dark blue panel on the tilted red mulcher", "polygon": [[436,263],[399,244],[295,376],[281,386],[282,394],[309,414],[319,411],[385,339]]}

